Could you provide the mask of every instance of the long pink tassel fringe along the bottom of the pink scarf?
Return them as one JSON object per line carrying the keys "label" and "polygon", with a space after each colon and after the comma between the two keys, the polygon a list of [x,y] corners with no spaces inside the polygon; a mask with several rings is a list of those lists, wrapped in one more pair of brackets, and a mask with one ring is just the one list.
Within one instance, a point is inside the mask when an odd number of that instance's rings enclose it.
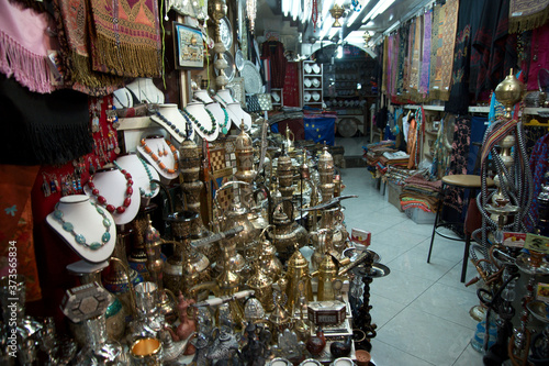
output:
{"label": "long pink tassel fringe along the bottom of the pink scarf", "polygon": [[49,93],[55,90],[51,84],[47,58],[22,47],[8,34],[0,31],[0,71],[13,76],[31,91]]}

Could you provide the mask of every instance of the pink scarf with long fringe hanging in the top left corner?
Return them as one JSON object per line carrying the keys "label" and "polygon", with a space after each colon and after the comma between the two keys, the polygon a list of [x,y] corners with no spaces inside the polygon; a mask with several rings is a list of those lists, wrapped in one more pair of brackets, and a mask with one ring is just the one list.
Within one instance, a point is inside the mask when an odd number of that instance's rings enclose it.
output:
{"label": "pink scarf with long fringe hanging in the top left corner", "polygon": [[54,91],[47,54],[58,46],[48,32],[53,25],[49,15],[3,0],[0,24],[0,73],[32,91]]}

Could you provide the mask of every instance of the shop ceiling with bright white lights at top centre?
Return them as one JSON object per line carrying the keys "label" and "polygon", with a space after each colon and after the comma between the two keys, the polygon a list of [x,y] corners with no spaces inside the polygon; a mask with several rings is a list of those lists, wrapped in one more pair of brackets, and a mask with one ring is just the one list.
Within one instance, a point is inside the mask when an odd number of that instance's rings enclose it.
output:
{"label": "shop ceiling with bright white lights at top centre", "polygon": [[[255,34],[266,41],[276,32],[288,51],[309,57],[321,44],[347,43],[368,51],[383,34],[419,14],[434,0],[318,0],[316,24],[313,0],[259,0]],[[341,26],[334,26],[338,13]],[[366,38],[365,38],[366,36]],[[368,41],[368,42],[365,42]]]}

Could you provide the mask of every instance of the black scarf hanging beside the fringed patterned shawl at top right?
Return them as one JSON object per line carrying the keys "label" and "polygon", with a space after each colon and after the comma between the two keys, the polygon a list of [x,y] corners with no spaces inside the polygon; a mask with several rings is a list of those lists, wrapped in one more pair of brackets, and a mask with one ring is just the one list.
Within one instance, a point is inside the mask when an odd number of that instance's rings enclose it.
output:
{"label": "black scarf hanging beside the fringed patterned shawl at top right", "polygon": [[482,91],[495,89],[516,65],[516,35],[508,34],[509,0],[488,0],[479,31],[473,37],[470,92],[475,99]]}

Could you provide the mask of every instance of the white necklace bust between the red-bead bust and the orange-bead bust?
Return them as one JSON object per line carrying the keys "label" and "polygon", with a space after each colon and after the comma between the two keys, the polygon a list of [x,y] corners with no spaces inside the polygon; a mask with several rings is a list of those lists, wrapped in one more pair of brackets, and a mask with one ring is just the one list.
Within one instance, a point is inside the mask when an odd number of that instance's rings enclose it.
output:
{"label": "white necklace bust between the red-bead bust and the orange-bead bust", "polygon": [[139,190],[142,208],[148,206],[150,199],[160,191],[160,187],[150,182],[160,180],[158,171],[135,153],[119,156],[114,163],[132,175],[134,188]]}

